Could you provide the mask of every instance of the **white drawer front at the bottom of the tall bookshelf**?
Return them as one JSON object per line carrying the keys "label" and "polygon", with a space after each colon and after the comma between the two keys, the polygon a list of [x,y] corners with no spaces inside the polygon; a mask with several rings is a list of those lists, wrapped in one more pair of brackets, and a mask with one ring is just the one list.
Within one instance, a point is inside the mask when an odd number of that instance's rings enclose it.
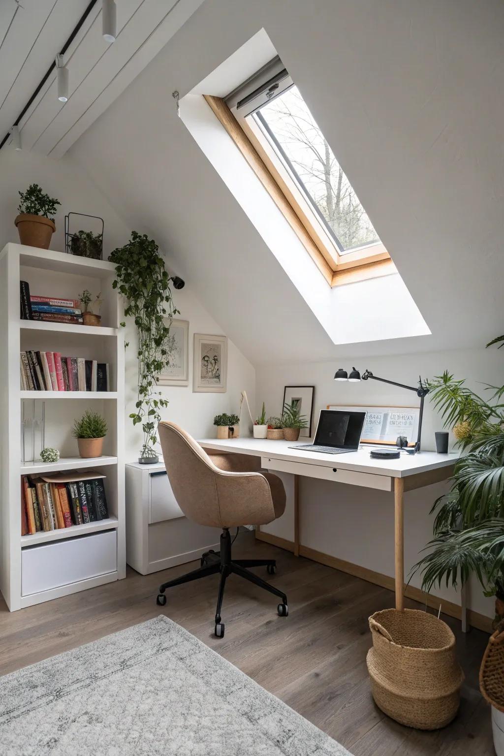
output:
{"label": "white drawer front at the bottom of the tall bookshelf", "polygon": [[106,530],[21,551],[21,595],[76,583],[117,569],[117,533]]}

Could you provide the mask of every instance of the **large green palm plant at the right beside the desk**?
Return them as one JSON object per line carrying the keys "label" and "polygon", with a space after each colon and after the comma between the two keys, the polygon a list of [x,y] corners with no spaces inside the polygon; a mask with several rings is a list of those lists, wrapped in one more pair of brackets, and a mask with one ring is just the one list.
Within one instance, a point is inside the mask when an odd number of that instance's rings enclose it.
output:
{"label": "large green palm plant at the right beside the desk", "polygon": [[[504,336],[487,346],[496,343]],[[441,581],[463,585],[474,573],[504,615],[504,386],[487,386],[493,395],[485,401],[445,371],[428,388],[467,454],[456,463],[450,493],[434,502],[434,538],[412,572],[421,570],[427,591]]]}

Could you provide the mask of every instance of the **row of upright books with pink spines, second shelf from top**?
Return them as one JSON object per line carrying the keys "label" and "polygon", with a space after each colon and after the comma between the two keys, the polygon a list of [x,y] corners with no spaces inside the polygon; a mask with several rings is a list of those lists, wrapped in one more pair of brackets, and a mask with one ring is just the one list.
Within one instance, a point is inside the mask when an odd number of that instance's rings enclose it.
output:
{"label": "row of upright books with pink spines, second shelf from top", "polygon": [[60,352],[21,352],[23,391],[109,391],[107,362],[63,357]]}

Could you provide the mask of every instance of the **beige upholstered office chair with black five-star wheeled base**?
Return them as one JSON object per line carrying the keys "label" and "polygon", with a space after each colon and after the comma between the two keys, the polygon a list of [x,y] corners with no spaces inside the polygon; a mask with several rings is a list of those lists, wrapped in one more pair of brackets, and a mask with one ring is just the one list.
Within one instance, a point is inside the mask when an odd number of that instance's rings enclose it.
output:
{"label": "beige upholstered office chair with black five-star wheeled base", "polygon": [[260,460],[246,457],[245,454],[209,456],[175,423],[159,423],[158,431],[166,472],[178,506],[188,519],[199,525],[222,528],[220,552],[211,550],[203,554],[199,569],[160,585],[156,599],[159,606],[165,606],[166,588],[220,572],[215,635],[221,638],[224,636],[224,623],[221,622],[224,586],[227,576],[233,572],[279,596],[282,603],[277,611],[280,617],[286,617],[289,607],[285,593],[246,569],[265,566],[267,572],[273,575],[275,560],[237,559],[233,562],[229,533],[229,528],[265,525],[283,515],[286,494],[280,478],[271,472],[258,472]]}

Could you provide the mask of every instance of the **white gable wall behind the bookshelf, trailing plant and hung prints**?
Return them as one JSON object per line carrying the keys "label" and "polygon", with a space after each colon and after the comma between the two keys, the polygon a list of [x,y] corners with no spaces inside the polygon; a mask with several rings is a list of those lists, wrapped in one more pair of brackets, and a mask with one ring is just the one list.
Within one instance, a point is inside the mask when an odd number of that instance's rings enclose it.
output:
{"label": "white gable wall behind the bookshelf, trailing plant and hung prints", "polygon": [[[104,259],[114,247],[128,241],[131,228],[128,221],[121,218],[100,190],[70,156],[61,160],[51,160],[26,150],[16,152],[12,147],[0,152],[0,249],[9,241],[19,242],[14,218],[17,215],[19,197],[17,191],[24,191],[29,184],[40,184],[42,190],[57,197],[61,207],[56,215],[56,233],[51,241],[51,249],[64,251],[64,215],[69,210],[100,215],[104,218]],[[147,225],[138,225],[137,231],[151,233]],[[167,259],[167,267],[172,270]],[[161,411],[163,420],[173,420],[196,437],[215,435],[212,421],[215,414],[237,412],[240,406],[240,392],[246,389],[249,401],[254,402],[255,371],[232,341],[228,345],[227,392],[225,394],[192,392],[193,333],[212,335],[226,333],[201,305],[195,295],[190,279],[183,290],[174,291],[175,305],[181,311],[178,318],[190,323],[189,370],[190,386],[162,386],[162,395],[169,400],[169,406]],[[141,448],[141,432],[134,429],[128,415],[135,410],[137,399],[138,362],[136,359],[136,334],[131,323],[127,325],[126,340],[130,345],[125,355],[125,453],[126,461],[134,461]],[[80,406],[79,406],[80,409]],[[73,419],[73,418],[72,418]],[[48,434],[49,438],[51,434]],[[69,434],[70,435],[70,434]],[[69,441],[71,443],[71,440]]]}

